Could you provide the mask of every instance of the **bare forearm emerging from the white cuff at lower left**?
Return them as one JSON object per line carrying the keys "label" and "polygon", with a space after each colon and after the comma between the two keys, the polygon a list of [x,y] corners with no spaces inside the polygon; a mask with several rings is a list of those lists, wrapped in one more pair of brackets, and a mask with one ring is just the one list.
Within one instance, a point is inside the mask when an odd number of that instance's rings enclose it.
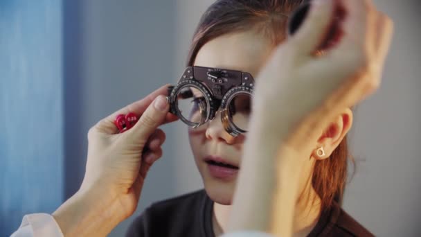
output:
{"label": "bare forearm emerging from the white cuff at lower left", "polygon": [[98,191],[78,191],[54,213],[64,236],[107,236],[123,218],[117,200],[107,200]]}

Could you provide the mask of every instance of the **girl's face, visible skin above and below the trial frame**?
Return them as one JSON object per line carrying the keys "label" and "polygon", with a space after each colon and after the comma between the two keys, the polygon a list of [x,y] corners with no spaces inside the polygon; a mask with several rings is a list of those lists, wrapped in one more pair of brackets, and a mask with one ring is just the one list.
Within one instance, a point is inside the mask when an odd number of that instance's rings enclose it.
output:
{"label": "girl's face, visible skin above and below the trial frame", "polygon": [[[249,72],[255,78],[274,46],[253,31],[231,33],[211,40],[197,53],[195,66]],[[231,204],[246,134],[231,137],[215,119],[199,128],[188,129],[190,146],[209,197],[220,204]],[[258,159],[258,157],[256,157]]]}

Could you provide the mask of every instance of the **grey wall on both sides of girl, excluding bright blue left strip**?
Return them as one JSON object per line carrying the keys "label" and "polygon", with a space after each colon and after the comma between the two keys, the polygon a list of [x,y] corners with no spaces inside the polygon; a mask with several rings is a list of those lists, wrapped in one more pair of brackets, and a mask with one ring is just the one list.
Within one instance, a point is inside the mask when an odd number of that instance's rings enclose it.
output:
{"label": "grey wall on both sides of girl, excluding bright blue left strip", "polygon": [[[78,190],[87,131],[183,71],[199,16],[213,1],[63,1],[64,197]],[[350,133],[357,173],[344,209],[377,236],[421,236],[421,37],[418,1],[375,0],[395,21],[382,87],[359,105]],[[157,200],[201,188],[181,123],[165,125],[134,216]],[[37,168],[37,167],[34,167]],[[123,236],[134,217],[109,236]]]}

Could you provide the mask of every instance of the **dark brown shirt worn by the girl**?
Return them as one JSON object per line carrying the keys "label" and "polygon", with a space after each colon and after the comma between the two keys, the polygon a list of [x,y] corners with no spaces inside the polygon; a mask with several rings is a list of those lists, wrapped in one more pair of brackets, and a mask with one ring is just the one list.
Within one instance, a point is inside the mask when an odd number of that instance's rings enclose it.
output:
{"label": "dark brown shirt worn by the girl", "polygon": [[[127,231],[129,237],[214,237],[213,201],[204,190],[152,204]],[[334,204],[324,211],[309,236],[373,236]]]}

